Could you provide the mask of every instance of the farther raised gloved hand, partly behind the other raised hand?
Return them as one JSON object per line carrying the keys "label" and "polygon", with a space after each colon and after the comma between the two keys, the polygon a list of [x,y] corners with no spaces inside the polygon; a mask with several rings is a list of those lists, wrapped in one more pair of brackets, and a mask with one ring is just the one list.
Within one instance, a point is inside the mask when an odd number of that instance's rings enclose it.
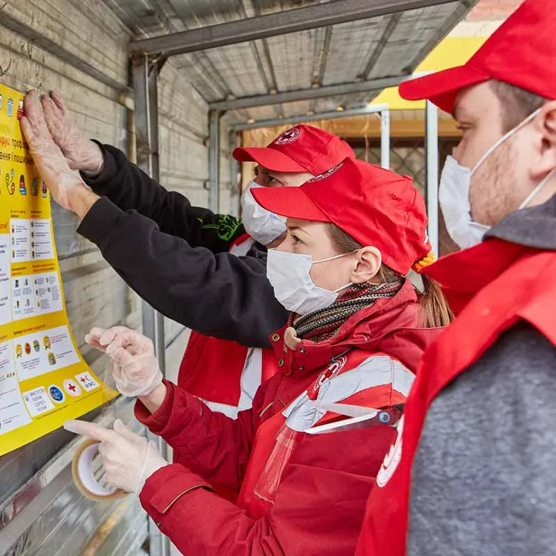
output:
{"label": "farther raised gloved hand, partly behind the other raised hand", "polygon": [[104,157],[99,145],[77,129],[60,95],[51,91],[50,95],[43,95],[40,101],[52,139],[60,147],[70,168],[93,175],[100,174]]}

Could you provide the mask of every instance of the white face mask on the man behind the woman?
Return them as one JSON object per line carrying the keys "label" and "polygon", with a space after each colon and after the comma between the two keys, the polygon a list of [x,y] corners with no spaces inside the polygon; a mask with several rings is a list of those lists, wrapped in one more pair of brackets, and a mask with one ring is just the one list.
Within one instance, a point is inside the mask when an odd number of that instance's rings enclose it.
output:
{"label": "white face mask on the man behind the woman", "polygon": [[267,211],[255,201],[251,190],[258,187],[263,186],[250,181],[241,194],[241,220],[247,234],[259,243],[268,245],[286,233],[286,218]]}

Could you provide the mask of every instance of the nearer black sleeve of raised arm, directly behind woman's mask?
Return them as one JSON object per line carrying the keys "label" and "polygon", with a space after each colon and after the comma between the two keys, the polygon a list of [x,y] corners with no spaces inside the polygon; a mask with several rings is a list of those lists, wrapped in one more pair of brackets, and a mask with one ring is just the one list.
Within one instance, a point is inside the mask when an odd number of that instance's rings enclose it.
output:
{"label": "nearer black sleeve of raised arm, directly behind woman's mask", "polygon": [[78,231],[154,309],[197,332],[263,347],[268,334],[286,323],[288,313],[266,278],[263,252],[238,257],[193,248],[106,197]]}

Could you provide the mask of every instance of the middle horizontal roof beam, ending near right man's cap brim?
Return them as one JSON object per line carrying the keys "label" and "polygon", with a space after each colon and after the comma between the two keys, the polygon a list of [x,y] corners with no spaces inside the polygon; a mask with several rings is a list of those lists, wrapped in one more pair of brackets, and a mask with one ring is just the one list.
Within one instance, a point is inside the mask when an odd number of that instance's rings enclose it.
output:
{"label": "middle horizontal roof beam, ending near right man's cap brim", "polygon": [[[415,75],[414,75],[415,76]],[[322,99],[336,95],[349,95],[354,92],[373,92],[387,87],[396,87],[402,81],[411,79],[411,75],[382,77],[369,79],[369,81],[358,81],[351,83],[340,83],[338,85],[326,85],[325,87],[311,87],[296,91],[278,92],[276,95],[258,95],[256,97],[241,97],[212,102],[208,106],[213,110],[229,111],[243,108],[255,108],[256,106],[270,106],[286,102],[297,102],[300,100]]]}

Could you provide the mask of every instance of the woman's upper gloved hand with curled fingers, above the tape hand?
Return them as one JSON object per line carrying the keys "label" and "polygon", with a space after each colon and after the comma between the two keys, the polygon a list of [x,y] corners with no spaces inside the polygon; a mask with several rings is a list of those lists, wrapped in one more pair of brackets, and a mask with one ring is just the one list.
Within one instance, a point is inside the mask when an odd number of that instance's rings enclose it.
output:
{"label": "woman's upper gloved hand with curled fingers, above the tape hand", "polygon": [[113,363],[117,391],[129,398],[151,393],[163,376],[152,341],[124,326],[93,328],[85,342],[106,352]]}

